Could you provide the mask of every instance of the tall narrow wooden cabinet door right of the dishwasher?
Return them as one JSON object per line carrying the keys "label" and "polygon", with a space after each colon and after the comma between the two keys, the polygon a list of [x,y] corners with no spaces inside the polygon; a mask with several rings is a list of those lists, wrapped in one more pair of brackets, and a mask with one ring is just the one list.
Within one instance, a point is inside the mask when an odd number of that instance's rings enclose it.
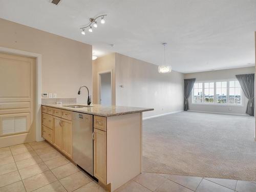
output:
{"label": "tall narrow wooden cabinet door right of the dishwasher", "polygon": [[106,132],[94,129],[94,177],[106,184]]}

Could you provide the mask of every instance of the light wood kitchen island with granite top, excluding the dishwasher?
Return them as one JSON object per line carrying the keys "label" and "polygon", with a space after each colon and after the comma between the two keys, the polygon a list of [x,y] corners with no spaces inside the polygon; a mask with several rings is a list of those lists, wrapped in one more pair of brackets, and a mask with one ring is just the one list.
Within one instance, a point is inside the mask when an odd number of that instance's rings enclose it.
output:
{"label": "light wood kitchen island with granite top, excluding the dishwasher", "polygon": [[98,104],[90,107],[78,103],[42,104],[42,137],[73,160],[77,155],[73,147],[76,137],[72,137],[77,126],[74,113],[90,115],[93,119],[91,140],[88,139],[93,146],[91,175],[108,191],[114,191],[141,173],[142,112],[152,110]]}

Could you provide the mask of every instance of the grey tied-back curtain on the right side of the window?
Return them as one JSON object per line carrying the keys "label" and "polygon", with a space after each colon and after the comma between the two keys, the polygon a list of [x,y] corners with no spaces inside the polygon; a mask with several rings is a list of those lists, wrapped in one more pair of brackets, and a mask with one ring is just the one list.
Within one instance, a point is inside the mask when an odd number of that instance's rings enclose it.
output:
{"label": "grey tied-back curtain on the right side of the window", "polygon": [[249,99],[246,114],[254,116],[254,74],[236,75],[245,96]]}

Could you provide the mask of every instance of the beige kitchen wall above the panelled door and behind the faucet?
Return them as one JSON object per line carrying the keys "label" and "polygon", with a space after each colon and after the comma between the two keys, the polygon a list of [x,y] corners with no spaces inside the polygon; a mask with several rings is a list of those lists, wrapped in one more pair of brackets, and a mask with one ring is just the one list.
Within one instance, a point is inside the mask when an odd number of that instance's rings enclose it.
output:
{"label": "beige kitchen wall above the panelled door and behind the faucet", "polygon": [[42,92],[57,97],[76,97],[86,102],[86,91],[78,96],[81,85],[92,90],[92,46],[0,19],[0,47],[42,55]]}

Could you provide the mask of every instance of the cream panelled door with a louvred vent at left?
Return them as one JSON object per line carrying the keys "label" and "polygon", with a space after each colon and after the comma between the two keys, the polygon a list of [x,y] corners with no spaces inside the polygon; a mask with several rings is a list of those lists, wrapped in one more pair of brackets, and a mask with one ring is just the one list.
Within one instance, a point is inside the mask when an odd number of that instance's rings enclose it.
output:
{"label": "cream panelled door with a louvred vent at left", "polygon": [[35,141],[34,57],[0,53],[0,147]]}

